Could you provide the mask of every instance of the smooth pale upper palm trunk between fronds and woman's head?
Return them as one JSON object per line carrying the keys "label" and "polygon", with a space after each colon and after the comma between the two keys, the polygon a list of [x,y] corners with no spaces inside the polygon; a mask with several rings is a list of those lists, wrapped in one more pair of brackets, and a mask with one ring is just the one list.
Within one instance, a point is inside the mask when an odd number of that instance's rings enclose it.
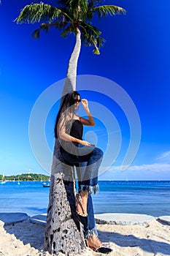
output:
{"label": "smooth pale upper palm trunk between fronds and woman's head", "polygon": [[66,80],[63,86],[62,96],[67,94],[69,91],[76,90],[76,77],[77,77],[77,62],[80,56],[81,49],[81,33],[80,29],[77,28],[76,43],[74,45],[74,50],[69,59],[69,65],[66,73]]}

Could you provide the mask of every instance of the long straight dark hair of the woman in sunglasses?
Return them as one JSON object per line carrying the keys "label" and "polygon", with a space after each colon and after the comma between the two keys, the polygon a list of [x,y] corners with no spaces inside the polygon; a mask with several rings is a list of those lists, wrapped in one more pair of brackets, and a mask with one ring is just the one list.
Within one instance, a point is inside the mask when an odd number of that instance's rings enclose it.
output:
{"label": "long straight dark hair of the woman in sunglasses", "polygon": [[77,101],[78,96],[80,96],[80,94],[77,91],[70,91],[68,94],[66,94],[61,98],[61,105],[55,121],[55,128],[54,128],[55,138],[58,138],[58,121],[60,120],[61,115],[63,115],[63,118],[65,121],[68,115],[71,118],[70,114],[74,113],[74,103]]}

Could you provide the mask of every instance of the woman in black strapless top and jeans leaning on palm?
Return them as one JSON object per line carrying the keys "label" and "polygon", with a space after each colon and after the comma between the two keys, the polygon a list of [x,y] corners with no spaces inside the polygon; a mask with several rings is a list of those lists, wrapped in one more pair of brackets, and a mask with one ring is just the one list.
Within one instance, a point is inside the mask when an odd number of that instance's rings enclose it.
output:
{"label": "woman in black strapless top and jeans leaning on palm", "polygon": [[[76,114],[80,102],[88,116],[87,119]],[[102,246],[98,239],[91,197],[92,193],[98,192],[98,168],[103,152],[88,141],[82,140],[83,125],[95,125],[88,108],[88,100],[80,99],[77,91],[69,92],[61,100],[55,122],[55,138],[60,140],[64,161],[68,165],[77,166],[77,218],[84,226],[86,244],[96,252],[109,253],[112,249]]]}

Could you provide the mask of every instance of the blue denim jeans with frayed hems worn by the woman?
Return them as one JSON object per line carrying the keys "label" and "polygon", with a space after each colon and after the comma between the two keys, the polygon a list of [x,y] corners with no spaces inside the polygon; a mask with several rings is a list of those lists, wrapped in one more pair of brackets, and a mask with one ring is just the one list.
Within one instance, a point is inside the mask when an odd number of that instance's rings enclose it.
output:
{"label": "blue denim jeans with frayed hems worn by the woman", "polygon": [[[83,149],[83,154],[81,149]],[[66,162],[76,166],[79,192],[88,192],[88,227],[84,227],[84,236],[88,238],[89,236],[93,236],[93,234],[97,236],[91,194],[96,194],[99,190],[98,168],[101,165],[103,151],[100,148],[79,144],[77,152],[77,157],[71,157],[66,151],[62,155]]]}

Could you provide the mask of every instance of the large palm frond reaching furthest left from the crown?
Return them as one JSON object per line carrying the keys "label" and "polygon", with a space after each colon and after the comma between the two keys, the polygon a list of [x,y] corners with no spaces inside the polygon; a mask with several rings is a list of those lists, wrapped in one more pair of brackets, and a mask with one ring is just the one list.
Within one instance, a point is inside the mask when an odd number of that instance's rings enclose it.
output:
{"label": "large palm frond reaching furthest left from the crown", "polygon": [[61,20],[64,17],[65,14],[59,8],[40,2],[40,4],[26,5],[15,21],[17,23],[51,23],[54,20]]}

